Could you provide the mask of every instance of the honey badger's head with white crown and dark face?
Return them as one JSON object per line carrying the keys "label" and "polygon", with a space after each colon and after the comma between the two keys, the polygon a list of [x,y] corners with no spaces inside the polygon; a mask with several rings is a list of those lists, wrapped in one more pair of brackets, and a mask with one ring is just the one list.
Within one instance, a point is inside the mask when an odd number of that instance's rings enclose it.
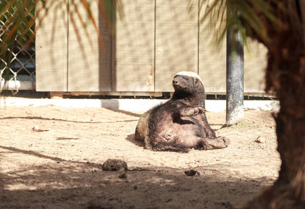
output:
{"label": "honey badger's head with white crown and dark face", "polygon": [[172,80],[172,86],[174,87],[174,91],[185,93],[198,92],[203,88],[199,75],[190,71],[178,72]]}

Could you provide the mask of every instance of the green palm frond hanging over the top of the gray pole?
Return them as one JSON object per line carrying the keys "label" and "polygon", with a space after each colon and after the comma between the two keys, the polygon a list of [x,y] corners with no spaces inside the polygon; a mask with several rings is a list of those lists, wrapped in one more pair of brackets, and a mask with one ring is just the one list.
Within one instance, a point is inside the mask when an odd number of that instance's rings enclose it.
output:
{"label": "green palm frond hanging over the top of the gray pole", "polygon": [[[216,31],[218,41],[225,37],[225,31],[235,26],[241,34],[244,42],[246,37],[258,36],[260,40],[268,45],[269,37],[266,22],[274,27],[281,26],[281,21],[276,17],[278,12],[272,5],[278,5],[278,0],[202,0],[200,13],[202,22],[210,22],[209,27]],[[278,7],[276,7],[278,8]],[[234,11],[234,15],[228,15]],[[285,12],[284,8],[281,12]],[[219,24],[222,22],[225,26]],[[219,25],[216,27],[216,25]]]}

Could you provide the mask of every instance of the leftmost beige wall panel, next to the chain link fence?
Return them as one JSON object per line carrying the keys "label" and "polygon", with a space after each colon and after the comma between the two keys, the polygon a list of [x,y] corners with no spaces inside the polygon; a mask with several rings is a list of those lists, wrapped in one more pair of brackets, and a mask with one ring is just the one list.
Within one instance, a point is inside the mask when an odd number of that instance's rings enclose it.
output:
{"label": "leftmost beige wall panel, next to the chain link fence", "polygon": [[52,1],[36,34],[36,91],[67,91],[68,15],[63,2]]}

